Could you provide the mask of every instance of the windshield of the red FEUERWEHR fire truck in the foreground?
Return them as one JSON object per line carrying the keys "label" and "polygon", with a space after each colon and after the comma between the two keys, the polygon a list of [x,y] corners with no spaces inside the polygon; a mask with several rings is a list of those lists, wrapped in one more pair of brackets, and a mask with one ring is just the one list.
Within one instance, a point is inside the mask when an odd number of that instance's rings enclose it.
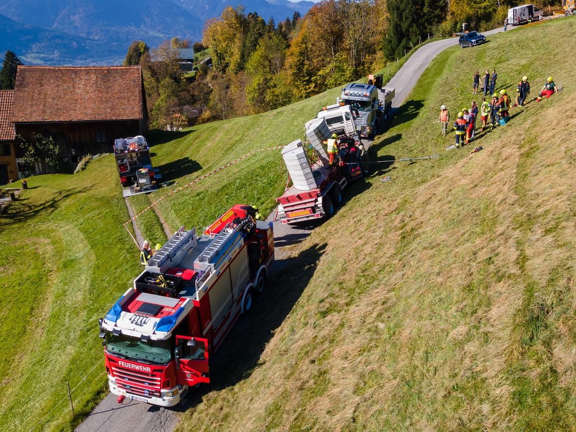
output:
{"label": "windshield of the red FEUERWEHR fire truck in the foreground", "polygon": [[111,354],[146,363],[166,364],[172,360],[168,340],[142,340],[130,336],[106,334],[106,348]]}

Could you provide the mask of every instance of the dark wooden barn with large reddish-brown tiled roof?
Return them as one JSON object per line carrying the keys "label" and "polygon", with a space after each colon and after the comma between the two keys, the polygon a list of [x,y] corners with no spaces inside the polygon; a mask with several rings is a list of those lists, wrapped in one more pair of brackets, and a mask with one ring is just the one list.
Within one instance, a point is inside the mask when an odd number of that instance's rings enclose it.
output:
{"label": "dark wooden barn with large reddish-brown tiled roof", "polygon": [[18,66],[10,122],[16,135],[52,137],[74,164],[142,135],[146,96],[140,66]]}

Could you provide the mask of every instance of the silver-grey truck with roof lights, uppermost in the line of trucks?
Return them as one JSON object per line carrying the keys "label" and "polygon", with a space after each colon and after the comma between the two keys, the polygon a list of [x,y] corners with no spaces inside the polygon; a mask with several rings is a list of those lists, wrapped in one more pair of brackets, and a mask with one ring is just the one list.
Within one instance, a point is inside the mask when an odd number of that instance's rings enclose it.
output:
{"label": "silver-grey truck with roof lights, uppermost in the line of trucks", "polygon": [[[369,79],[369,82],[382,82],[382,79]],[[351,106],[358,135],[374,137],[378,124],[390,118],[395,93],[395,89],[378,88],[373,84],[351,83],[342,89],[340,100]]]}

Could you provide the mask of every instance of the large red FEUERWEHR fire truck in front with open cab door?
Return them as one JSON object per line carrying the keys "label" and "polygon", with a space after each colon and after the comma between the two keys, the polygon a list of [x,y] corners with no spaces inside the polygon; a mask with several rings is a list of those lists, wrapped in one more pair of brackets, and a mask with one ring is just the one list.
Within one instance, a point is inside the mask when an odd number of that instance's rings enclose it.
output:
{"label": "large red FEUERWEHR fire truck in front with open cab door", "polygon": [[200,237],[180,229],[100,319],[113,394],[170,407],[210,382],[211,355],[274,262],[272,223],[255,213],[237,204]]}

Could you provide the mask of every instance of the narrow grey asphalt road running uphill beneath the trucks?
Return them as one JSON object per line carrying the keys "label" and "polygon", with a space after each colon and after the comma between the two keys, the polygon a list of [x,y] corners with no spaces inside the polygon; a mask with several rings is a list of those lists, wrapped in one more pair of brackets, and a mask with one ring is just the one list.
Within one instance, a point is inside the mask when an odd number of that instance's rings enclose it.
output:
{"label": "narrow grey asphalt road running uphill beneath the trucks", "polygon": [[[502,29],[495,29],[484,32],[486,36],[498,33]],[[412,91],[416,82],[422,75],[423,71],[430,62],[440,52],[446,48],[458,43],[456,38],[444,39],[426,44],[419,48],[410,59],[394,75],[386,87],[396,89],[396,96],[393,100],[392,107],[400,107],[408,94]],[[365,146],[372,145],[372,141],[363,140]],[[275,217],[275,211],[270,215],[270,219]],[[274,222],[274,237],[276,244],[276,258],[283,256],[282,247],[303,240],[309,236],[315,225],[321,222],[315,222],[309,226],[289,226],[279,222]],[[90,413],[76,429],[78,432],[113,432],[119,430],[131,430],[133,432],[171,432],[178,421],[178,412],[187,410],[190,400],[194,397],[188,397],[181,406],[176,410],[166,410],[156,406],[134,400],[124,399],[122,404],[116,402],[116,396],[109,393],[107,397]]]}

